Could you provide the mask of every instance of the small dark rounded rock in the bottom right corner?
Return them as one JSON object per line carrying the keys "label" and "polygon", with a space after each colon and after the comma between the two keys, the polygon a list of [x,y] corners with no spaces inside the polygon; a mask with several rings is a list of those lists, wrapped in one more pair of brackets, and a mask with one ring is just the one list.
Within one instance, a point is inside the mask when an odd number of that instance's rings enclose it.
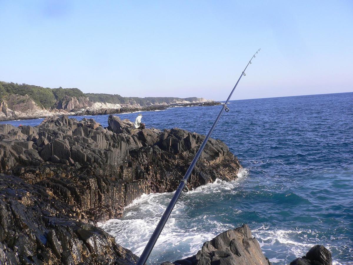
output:
{"label": "small dark rounded rock in the bottom right corner", "polygon": [[304,257],[293,260],[290,265],[332,265],[331,252],[322,245],[315,245]]}

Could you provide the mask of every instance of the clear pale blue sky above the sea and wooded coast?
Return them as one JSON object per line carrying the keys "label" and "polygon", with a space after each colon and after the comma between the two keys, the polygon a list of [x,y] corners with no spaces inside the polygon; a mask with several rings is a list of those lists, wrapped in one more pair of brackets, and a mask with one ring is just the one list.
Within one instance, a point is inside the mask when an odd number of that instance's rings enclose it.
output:
{"label": "clear pale blue sky above the sea and wooded coast", "polygon": [[224,100],[353,91],[353,1],[3,1],[0,80]]}

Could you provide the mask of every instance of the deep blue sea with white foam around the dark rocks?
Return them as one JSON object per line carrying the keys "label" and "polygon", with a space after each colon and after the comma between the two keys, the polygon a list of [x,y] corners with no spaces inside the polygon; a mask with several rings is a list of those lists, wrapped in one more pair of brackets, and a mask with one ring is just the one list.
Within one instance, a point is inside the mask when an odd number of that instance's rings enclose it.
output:
{"label": "deep blue sea with white foam around the dark rocks", "polygon": [[[228,107],[213,138],[244,169],[237,181],[183,193],[149,262],[193,255],[204,241],[246,223],[273,264],[289,264],[315,244],[330,249],[334,264],[353,264],[353,93],[236,100]],[[142,120],[206,134],[220,108],[173,107],[144,112]],[[118,116],[134,120],[136,113]],[[107,126],[107,115],[86,118]],[[123,218],[101,226],[139,255],[172,195],[143,195]]]}

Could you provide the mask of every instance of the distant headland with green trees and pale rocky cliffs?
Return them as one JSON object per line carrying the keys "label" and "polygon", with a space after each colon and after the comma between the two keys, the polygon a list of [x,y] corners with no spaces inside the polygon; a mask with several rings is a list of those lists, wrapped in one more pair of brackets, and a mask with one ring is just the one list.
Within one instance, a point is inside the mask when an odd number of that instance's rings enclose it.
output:
{"label": "distant headland with green trees and pale rocky cliffs", "polygon": [[208,106],[219,102],[204,98],[137,98],[85,94],[77,88],[43,88],[0,81],[0,120],[48,118],[62,115],[99,115],[160,110],[168,106]]}

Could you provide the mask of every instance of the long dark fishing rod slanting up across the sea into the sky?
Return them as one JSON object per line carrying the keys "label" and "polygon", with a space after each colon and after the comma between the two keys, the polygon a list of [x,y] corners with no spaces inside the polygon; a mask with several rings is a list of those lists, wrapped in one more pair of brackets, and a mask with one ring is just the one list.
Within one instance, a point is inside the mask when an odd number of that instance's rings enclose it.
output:
{"label": "long dark fishing rod slanting up across the sea into the sky", "polygon": [[208,132],[208,134],[206,135],[205,140],[203,140],[202,145],[201,145],[200,149],[197,151],[197,153],[196,153],[194,159],[192,160],[192,162],[191,162],[191,164],[190,164],[190,166],[189,166],[189,169],[188,169],[188,170],[186,171],[186,173],[185,173],[184,178],[180,181],[178,189],[175,191],[172,200],[170,200],[169,205],[167,206],[166,210],[164,211],[164,213],[163,213],[163,215],[162,215],[162,218],[159,220],[159,222],[158,222],[158,224],[157,224],[157,226],[156,226],[156,229],[153,231],[152,236],[151,236],[150,240],[148,241],[148,243],[147,243],[145,249],[143,250],[142,254],[140,255],[140,258],[138,259],[136,265],[144,265],[144,264],[145,264],[145,262],[147,261],[149,255],[151,254],[151,251],[152,251],[154,245],[155,245],[156,242],[157,242],[158,237],[160,236],[160,234],[161,234],[161,232],[162,232],[162,230],[163,230],[163,228],[164,228],[164,225],[166,224],[166,222],[167,222],[167,220],[168,220],[168,218],[169,218],[169,216],[170,216],[170,213],[173,211],[173,208],[174,208],[175,204],[177,203],[177,201],[178,201],[178,199],[179,199],[179,197],[180,197],[181,192],[182,192],[182,191],[187,192],[187,191],[189,190],[189,189],[187,188],[187,186],[185,187],[185,185],[187,184],[187,179],[190,177],[191,172],[192,172],[192,170],[194,169],[194,167],[195,167],[195,165],[196,165],[196,162],[197,162],[197,160],[199,159],[199,157],[200,157],[200,155],[201,155],[203,149],[205,148],[208,139],[210,139],[210,136],[211,136],[213,130],[215,129],[215,127],[216,127],[216,125],[217,125],[219,119],[221,118],[222,112],[223,112],[223,111],[226,111],[226,112],[229,111],[229,108],[227,107],[227,103],[228,103],[229,99],[231,99],[231,96],[233,95],[233,92],[234,92],[235,88],[238,86],[238,83],[239,83],[241,77],[242,77],[242,76],[245,76],[245,70],[246,70],[247,66],[249,66],[249,64],[251,64],[251,60],[252,60],[253,58],[255,58],[255,55],[256,55],[260,50],[261,50],[261,49],[258,49],[258,50],[256,51],[256,53],[255,53],[254,55],[252,55],[252,57],[251,57],[249,63],[247,63],[247,65],[246,65],[244,71],[241,73],[241,75],[240,75],[240,77],[239,77],[237,83],[235,84],[234,88],[232,89],[231,94],[229,94],[229,96],[228,96],[226,102],[223,104],[222,109],[221,109],[220,112],[218,113],[218,116],[217,116],[217,118],[215,119],[215,121],[214,121],[214,123],[213,123],[211,129],[210,129],[209,132]]}

